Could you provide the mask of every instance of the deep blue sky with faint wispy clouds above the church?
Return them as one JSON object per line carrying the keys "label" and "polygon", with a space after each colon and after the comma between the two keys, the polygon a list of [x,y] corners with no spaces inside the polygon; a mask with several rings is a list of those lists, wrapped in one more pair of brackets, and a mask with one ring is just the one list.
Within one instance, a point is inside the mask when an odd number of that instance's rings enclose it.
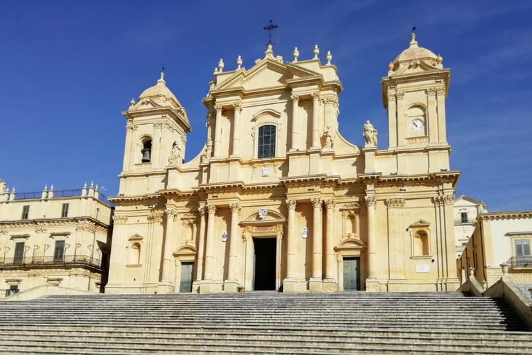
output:
{"label": "deep blue sky with faint wispy clouds above the church", "polygon": [[531,209],[532,1],[3,1],[0,10],[0,178],[17,191],[118,191],[131,98],[165,79],[193,132],[186,160],[204,145],[202,98],[220,58],[248,69],[263,58],[269,19],[276,55],[333,55],[344,84],[340,132],[363,144],[370,119],[387,148],[380,79],[407,48],[451,68],[447,139],[457,195],[490,211]]}

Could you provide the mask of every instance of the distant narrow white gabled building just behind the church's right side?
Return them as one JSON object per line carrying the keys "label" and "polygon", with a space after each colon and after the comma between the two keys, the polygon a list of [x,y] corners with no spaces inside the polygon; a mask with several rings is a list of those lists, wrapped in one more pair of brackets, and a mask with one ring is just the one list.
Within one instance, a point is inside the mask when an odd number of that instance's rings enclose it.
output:
{"label": "distant narrow white gabled building just behind the church's right side", "polygon": [[454,238],[456,239],[456,259],[461,257],[465,245],[475,230],[477,216],[488,212],[482,200],[468,198],[463,193],[454,200]]}

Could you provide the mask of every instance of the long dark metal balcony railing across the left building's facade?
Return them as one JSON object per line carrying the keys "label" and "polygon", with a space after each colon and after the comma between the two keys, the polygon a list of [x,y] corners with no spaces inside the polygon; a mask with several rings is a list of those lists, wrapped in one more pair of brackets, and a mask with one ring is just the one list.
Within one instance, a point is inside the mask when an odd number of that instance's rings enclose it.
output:
{"label": "long dark metal balcony railing across the left building's facade", "polygon": [[87,255],[65,255],[64,257],[18,257],[0,259],[0,268],[6,267],[31,267],[31,266],[61,266],[83,265],[94,268],[107,269],[107,264],[101,260]]}

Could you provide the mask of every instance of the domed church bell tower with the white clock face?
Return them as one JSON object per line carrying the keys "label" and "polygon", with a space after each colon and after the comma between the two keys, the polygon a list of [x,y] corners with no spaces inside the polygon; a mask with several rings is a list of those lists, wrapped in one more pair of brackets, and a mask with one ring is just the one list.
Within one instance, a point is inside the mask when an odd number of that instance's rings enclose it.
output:
{"label": "domed church bell tower with the white clock face", "polygon": [[445,97],[450,69],[443,69],[442,61],[418,46],[412,33],[408,48],[388,65],[381,84],[390,150],[448,146]]}

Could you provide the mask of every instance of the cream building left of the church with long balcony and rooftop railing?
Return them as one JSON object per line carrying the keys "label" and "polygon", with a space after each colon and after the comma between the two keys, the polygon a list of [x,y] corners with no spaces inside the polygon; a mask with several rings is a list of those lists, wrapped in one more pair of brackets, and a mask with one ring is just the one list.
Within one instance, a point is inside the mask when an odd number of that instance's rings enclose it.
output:
{"label": "cream building left of the church with long balcony and rooftop railing", "polygon": [[112,213],[92,184],[17,193],[0,180],[0,297],[45,283],[103,292]]}

